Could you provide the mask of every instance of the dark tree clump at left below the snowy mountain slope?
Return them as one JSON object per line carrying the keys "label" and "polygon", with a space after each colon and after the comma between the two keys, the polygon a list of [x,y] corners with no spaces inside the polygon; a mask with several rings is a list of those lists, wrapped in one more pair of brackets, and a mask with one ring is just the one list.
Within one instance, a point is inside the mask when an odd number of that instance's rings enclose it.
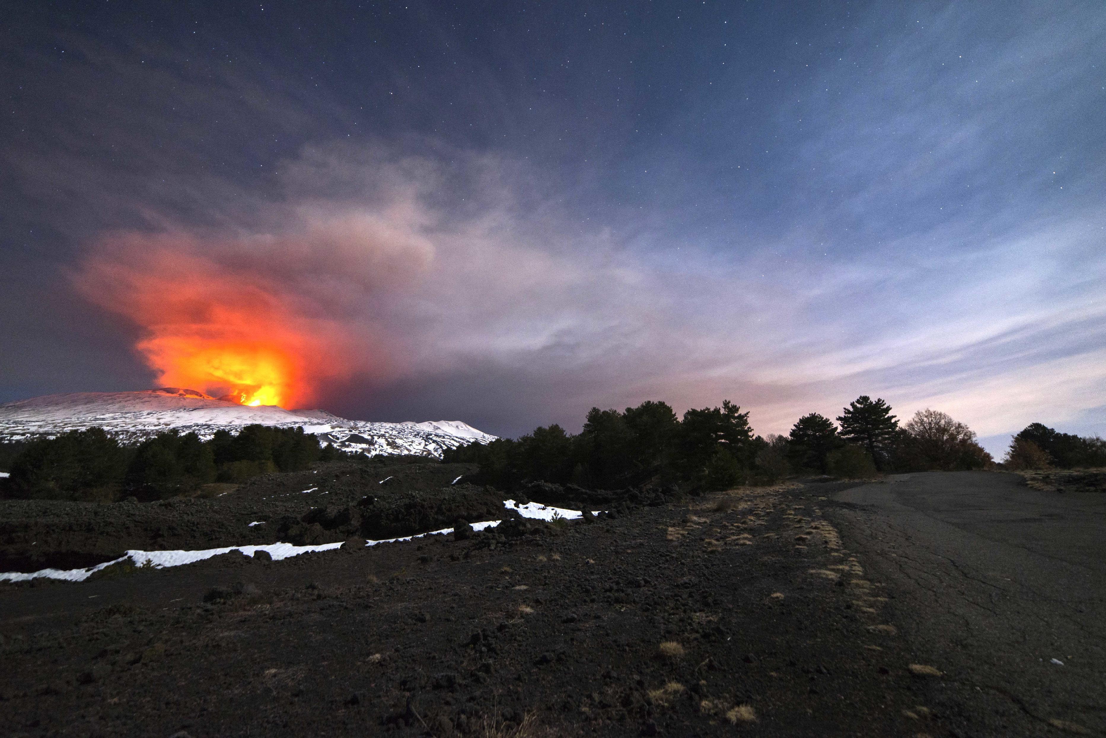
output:
{"label": "dark tree clump at left below the snowy mountain slope", "polygon": [[10,464],[6,496],[111,502],[192,494],[216,482],[240,483],[272,472],[299,472],[345,454],[302,428],[247,425],[237,435],[216,431],[158,433],[126,446],[101,428],[70,431],[21,445]]}

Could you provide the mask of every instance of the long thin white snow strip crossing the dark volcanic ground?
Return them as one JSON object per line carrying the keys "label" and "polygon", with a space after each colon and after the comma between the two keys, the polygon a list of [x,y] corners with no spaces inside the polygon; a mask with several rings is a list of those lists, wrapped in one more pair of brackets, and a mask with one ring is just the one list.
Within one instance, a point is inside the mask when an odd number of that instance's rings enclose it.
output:
{"label": "long thin white snow strip crossing the dark volcanic ground", "polygon": [[[509,509],[518,510],[519,515],[524,518],[536,518],[541,520],[553,520],[554,518],[563,518],[565,520],[573,520],[582,516],[580,510],[568,510],[563,507],[546,507],[539,503],[526,503],[525,505],[520,505],[513,499],[508,499],[503,502],[503,507]],[[483,520],[481,523],[473,523],[473,530],[483,530],[484,528],[491,528],[498,526],[501,520]],[[252,525],[258,525],[251,523]],[[366,541],[366,546],[376,546],[377,544],[396,544],[407,540],[413,540],[415,538],[422,538],[424,536],[444,536],[453,533],[452,528],[442,528],[440,530],[431,530],[429,533],[420,533],[413,536],[403,536],[400,538],[385,538],[384,540],[369,540]],[[27,581],[29,579],[63,579],[65,581],[80,582],[84,581],[93,573],[100,571],[101,569],[106,569],[107,567],[119,563],[129,559],[135,566],[153,567],[155,569],[165,569],[167,567],[179,567],[186,563],[195,563],[196,561],[202,561],[205,559],[210,559],[212,556],[220,556],[222,554],[229,554],[231,551],[241,551],[246,556],[252,557],[257,551],[268,551],[269,556],[272,557],[273,561],[280,561],[281,559],[286,559],[291,556],[300,556],[301,554],[312,554],[314,551],[332,551],[336,548],[341,548],[344,541],[338,541],[336,544],[320,544],[317,546],[293,546],[292,544],[267,544],[264,546],[225,546],[222,548],[206,548],[198,551],[139,551],[129,550],[124,556],[112,561],[105,561],[104,563],[97,563],[94,567],[86,567],[84,569],[42,569],[40,571],[32,572],[21,572],[21,571],[8,571],[0,573],[0,581]]]}

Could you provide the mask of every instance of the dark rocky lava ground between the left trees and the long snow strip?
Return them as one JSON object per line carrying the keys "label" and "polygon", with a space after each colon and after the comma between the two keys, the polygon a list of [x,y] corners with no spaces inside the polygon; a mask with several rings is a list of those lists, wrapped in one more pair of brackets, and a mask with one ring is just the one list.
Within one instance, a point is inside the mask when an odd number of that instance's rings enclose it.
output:
{"label": "dark rocky lava ground between the left trees and the long snow strip", "polygon": [[209,498],[107,505],[0,500],[0,571],[85,567],[127,549],[201,549],[278,539],[321,544],[352,535],[379,540],[448,527],[459,517],[502,517],[502,494],[465,484],[463,475],[474,471],[470,464],[383,457],[268,474],[242,485],[211,485]]}

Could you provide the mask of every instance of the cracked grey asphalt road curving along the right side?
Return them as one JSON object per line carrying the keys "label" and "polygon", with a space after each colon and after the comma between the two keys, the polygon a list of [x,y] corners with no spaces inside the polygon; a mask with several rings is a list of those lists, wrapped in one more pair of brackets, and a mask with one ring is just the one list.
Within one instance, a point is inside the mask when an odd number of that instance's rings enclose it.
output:
{"label": "cracked grey asphalt road curving along the right side", "polygon": [[958,735],[1106,735],[1106,494],[938,472],[833,499],[908,646],[945,672],[929,698]]}

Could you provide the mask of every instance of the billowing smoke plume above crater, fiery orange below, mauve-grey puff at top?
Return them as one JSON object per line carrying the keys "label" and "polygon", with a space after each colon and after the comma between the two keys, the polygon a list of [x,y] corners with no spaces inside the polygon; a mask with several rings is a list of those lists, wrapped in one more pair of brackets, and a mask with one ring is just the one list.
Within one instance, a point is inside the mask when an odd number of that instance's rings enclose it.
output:
{"label": "billowing smoke plume above crater, fiery orange below, mauve-grey puff at top", "polygon": [[142,331],[161,384],[295,408],[393,358],[361,307],[415,277],[432,249],[403,218],[342,213],[243,238],[116,233],[73,274],[93,304]]}

